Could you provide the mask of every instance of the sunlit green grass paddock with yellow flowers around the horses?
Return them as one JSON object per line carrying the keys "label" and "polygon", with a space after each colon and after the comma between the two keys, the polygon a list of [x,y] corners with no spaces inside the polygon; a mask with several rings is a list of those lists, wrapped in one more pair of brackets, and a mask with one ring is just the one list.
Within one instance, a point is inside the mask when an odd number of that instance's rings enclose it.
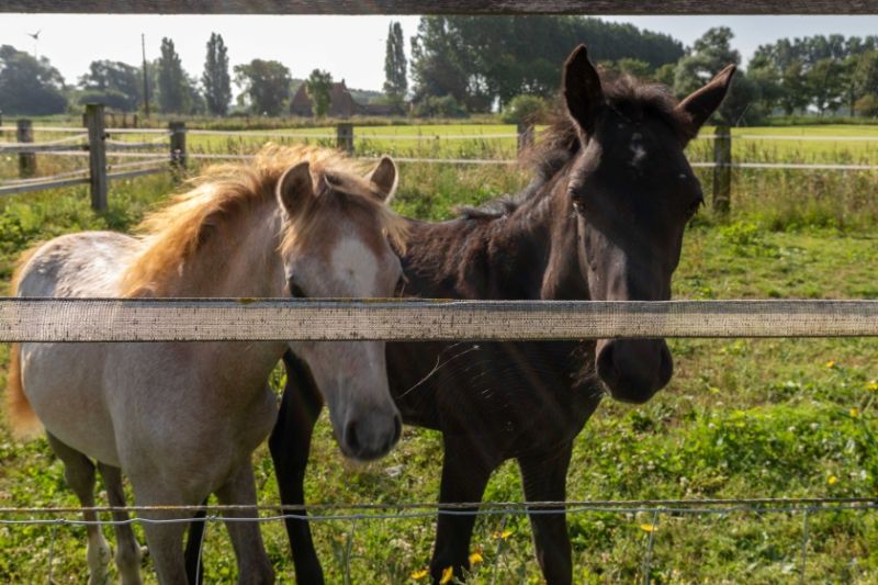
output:
{"label": "sunlit green grass paddock with yellow flowers around the horses", "polygon": [[[383,134],[393,128],[370,130]],[[804,132],[869,130],[809,126]],[[822,143],[802,142],[800,147],[818,144]],[[854,144],[858,143],[838,147]],[[784,145],[778,140],[778,148]],[[829,156],[831,150],[820,153],[813,156]],[[457,204],[514,191],[527,180],[522,172],[498,167],[409,164],[401,170],[396,209],[428,218],[449,217]],[[700,177],[709,196],[710,175]],[[687,232],[675,297],[878,299],[877,178],[736,173],[732,215],[721,220],[705,210]],[[1,199],[0,281],[8,281],[13,258],[32,243],[81,229],[128,229],[171,189],[165,177],[112,183],[111,210],[104,215],[89,211],[83,188]],[[878,340],[690,339],[672,340],[671,346],[676,360],[671,385],[645,406],[605,402],[577,439],[569,475],[571,499],[878,495]],[[7,355],[8,347],[0,346],[0,386]],[[4,428],[0,506],[76,505],[45,440],[22,445]],[[277,503],[264,447],[256,461],[260,502]],[[308,500],[431,502],[438,494],[440,464],[439,436],[407,428],[387,459],[352,465],[339,455],[324,416],[307,480]],[[521,497],[517,469],[507,463],[492,479],[485,498]],[[503,521],[492,516],[476,522],[473,548],[484,561],[475,566],[475,581],[539,583],[527,521],[513,516]],[[573,515],[569,522],[576,582],[642,581],[651,536],[643,526],[653,522],[654,583],[746,578],[773,584],[799,578],[801,514],[661,515],[656,521],[649,513],[590,511]],[[878,581],[878,511],[813,513],[808,522],[806,582]],[[415,583],[410,575],[429,560],[434,527],[432,518],[360,520],[350,549],[350,521],[322,522],[314,531],[329,583],[344,581],[348,563],[353,583]],[[506,538],[500,538],[502,528],[508,531]],[[45,580],[50,555],[56,583],[85,581],[85,529],[58,527],[52,543],[53,530],[0,526],[0,582]],[[106,533],[112,542],[112,531]],[[264,525],[263,533],[279,580],[293,582],[280,522]],[[205,562],[207,582],[233,582],[234,558],[219,525],[207,530]],[[148,561],[145,566],[147,580],[155,582]]]}

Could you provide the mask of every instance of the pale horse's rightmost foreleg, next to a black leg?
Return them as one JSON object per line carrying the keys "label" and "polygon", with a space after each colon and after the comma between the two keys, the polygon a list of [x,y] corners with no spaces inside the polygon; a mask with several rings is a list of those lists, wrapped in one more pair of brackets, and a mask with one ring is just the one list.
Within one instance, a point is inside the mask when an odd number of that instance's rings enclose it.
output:
{"label": "pale horse's rightmost foreleg, next to a black leg", "polygon": [[228,518],[226,528],[235,549],[235,558],[238,561],[238,583],[254,585],[274,583],[274,570],[271,569],[268,554],[266,554],[259,522],[236,519],[259,516],[256,510],[256,483],[249,458],[216,492],[216,497],[224,506],[254,506],[250,509],[235,509],[224,514]]}

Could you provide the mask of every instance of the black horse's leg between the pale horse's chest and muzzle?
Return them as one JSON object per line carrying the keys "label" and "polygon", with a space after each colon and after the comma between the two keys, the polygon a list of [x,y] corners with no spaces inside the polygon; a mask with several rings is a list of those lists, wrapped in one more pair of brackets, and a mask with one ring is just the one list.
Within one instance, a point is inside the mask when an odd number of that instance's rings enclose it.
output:
{"label": "black horse's leg between the pale horse's chest and muzzle", "polygon": [[[289,351],[283,362],[286,368],[286,387],[283,391],[278,421],[274,424],[268,445],[274,462],[274,473],[278,476],[281,504],[303,506],[311,437],[323,407],[323,398],[303,362]],[[305,516],[306,511],[302,508],[285,510],[285,514]],[[309,585],[323,584],[323,567],[314,550],[308,521],[286,518],[285,525],[296,581]]]}

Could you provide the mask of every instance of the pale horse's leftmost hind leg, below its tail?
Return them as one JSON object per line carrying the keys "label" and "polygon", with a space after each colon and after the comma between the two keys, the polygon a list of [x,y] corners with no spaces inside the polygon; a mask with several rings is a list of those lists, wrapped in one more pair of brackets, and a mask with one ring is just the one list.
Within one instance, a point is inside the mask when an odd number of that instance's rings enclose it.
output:
{"label": "pale horse's leftmost hind leg, below its tail", "polygon": [[[67,484],[79,498],[79,503],[85,508],[94,507],[94,463],[89,458],[63,443],[50,434],[48,442],[52,450],[64,462],[64,476]],[[93,511],[85,511],[86,521],[95,522],[98,515]],[[89,544],[86,558],[89,563],[89,585],[103,585],[110,578],[108,570],[110,567],[110,544],[103,538],[101,527],[97,524],[88,524],[86,531]]]}

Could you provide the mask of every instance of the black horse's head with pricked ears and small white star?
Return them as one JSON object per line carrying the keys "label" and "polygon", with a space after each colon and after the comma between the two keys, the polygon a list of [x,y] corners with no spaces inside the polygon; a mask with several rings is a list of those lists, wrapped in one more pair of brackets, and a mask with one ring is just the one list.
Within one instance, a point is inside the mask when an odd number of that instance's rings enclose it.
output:
{"label": "black horse's head with pricked ears and small white star", "polygon": [[[703,203],[684,155],[719,106],[734,66],[677,103],[667,88],[621,79],[601,86],[581,45],[563,92],[579,149],[567,192],[577,212],[581,266],[595,301],[666,301],[687,222]],[[663,339],[601,339],[597,373],[620,401],[643,403],[671,380]]]}

